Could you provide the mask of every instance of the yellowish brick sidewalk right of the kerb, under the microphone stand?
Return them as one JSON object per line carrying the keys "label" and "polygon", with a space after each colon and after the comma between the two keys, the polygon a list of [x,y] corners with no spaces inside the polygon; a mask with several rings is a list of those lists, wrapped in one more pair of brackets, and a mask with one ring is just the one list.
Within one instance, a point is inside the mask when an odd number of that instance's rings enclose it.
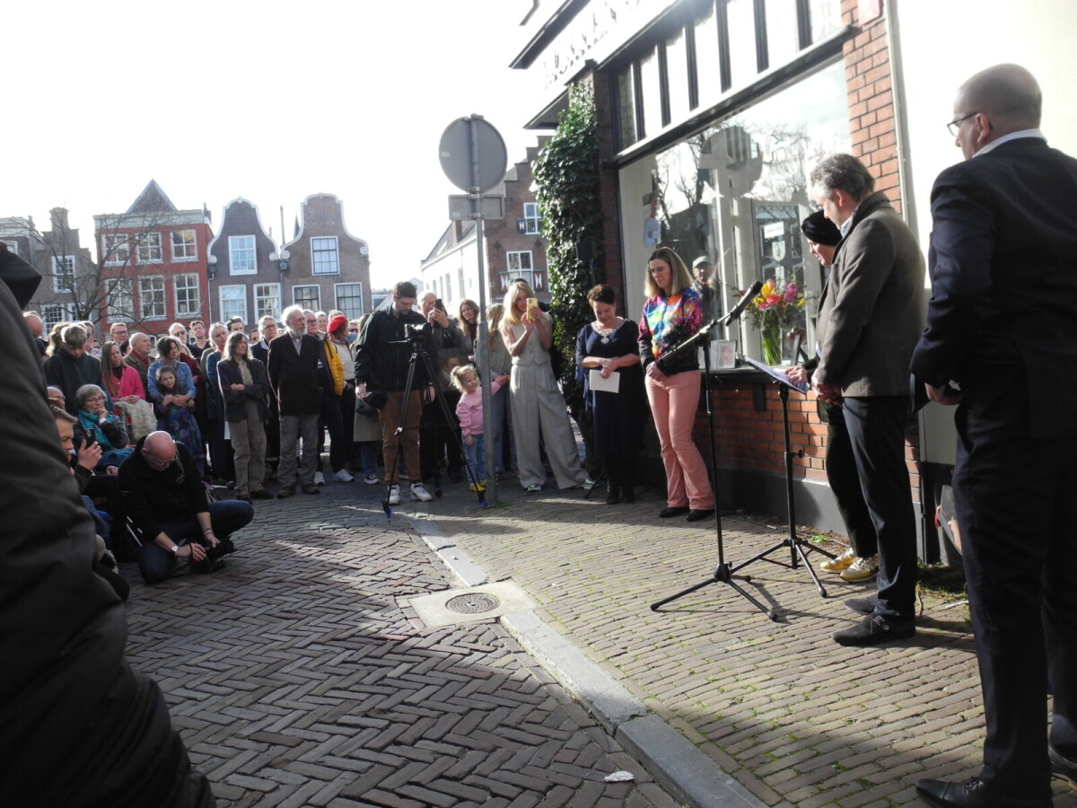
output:
{"label": "yellowish brick sidewalk right of the kerb, under the microphone stand", "polygon": [[[919,805],[923,777],[980,768],[983,712],[967,608],[921,604],[917,637],[844,649],[830,635],[857,616],[842,607],[867,585],[824,574],[823,599],[801,567],[757,562],[745,587],[772,623],[729,587],[711,585],[662,612],[649,604],[713,575],[714,523],[659,519],[654,492],[606,505],[604,491],[503,486],[504,506],[475,519],[453,493],[436,524],[491,580],[512,577],[553,625],[759,799],[774,806]],[[725,518],[736,565],[783,533]],[[788,560],[783,549],[771,558]],[[811,554],[813,562],[821,560]],[[1055,781],[1054,806],[1077,806]]]}

